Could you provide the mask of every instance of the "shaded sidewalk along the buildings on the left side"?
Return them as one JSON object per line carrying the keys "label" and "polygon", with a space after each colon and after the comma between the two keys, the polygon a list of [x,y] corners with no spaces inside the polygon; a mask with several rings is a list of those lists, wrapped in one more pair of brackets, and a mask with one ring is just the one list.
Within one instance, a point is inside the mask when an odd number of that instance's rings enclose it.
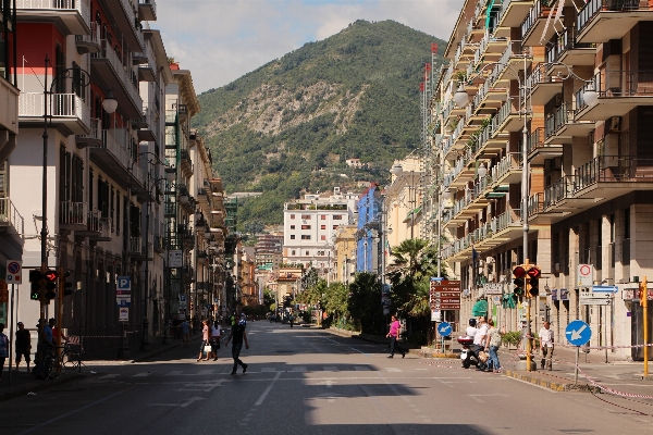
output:
{"label": "shaded sidewalk along the buildings on the left side", "polygon": [[[190,341],[199,340],[201,336],[199,334],[195,334],[190,336]],[[128,364],[132,362],[141,362],[152,359],[163,352],[167,352],[171,349],[175,349],[182,346],[181,339],[171,339],[171,343],[168,345],[163,345],[162,337],[155,337],[150,341],[149,350],[141,351],[136,346],[130,349],[131,356],[127,360],[118,360],[115,359],[115,349],[111,350],[112,358],[107,359],[95,359],[95,360],[85,360],[82,359],[82,371],[79,369],[69,370],[62,369],[59,378],[57,380],[37,380],[32,373],[26,371],[25,362],[21,364],[20,371],[16,372],[15,365],[11,372],[11,386],[9,385],[10,375],[9,368],[4,366],[2,371],[2,381],[0,381],[0,401],[9,400],[14,397],[25,396],[28,393],[37,393],[39,390],[50,388],[56,385],[61,385],[67,382],[76,381],[86,377],[90,374],[91,371],[96,371],[95,368],[101,368],[103,365],[111,364]],[[8,359],[9,360],[9,359]]]}

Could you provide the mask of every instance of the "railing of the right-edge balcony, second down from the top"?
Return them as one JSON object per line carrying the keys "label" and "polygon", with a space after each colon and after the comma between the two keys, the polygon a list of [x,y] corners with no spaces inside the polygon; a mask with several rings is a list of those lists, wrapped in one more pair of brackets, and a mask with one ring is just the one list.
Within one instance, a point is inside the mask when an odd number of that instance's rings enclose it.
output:
{"label": "railing of the right-edge balcony, second down from the top", "polygon": [[577,110],[587,107],[583,96],[590,89],[607,98],[653,96],[653,71],[603,70],[596,73],[576,91]]}

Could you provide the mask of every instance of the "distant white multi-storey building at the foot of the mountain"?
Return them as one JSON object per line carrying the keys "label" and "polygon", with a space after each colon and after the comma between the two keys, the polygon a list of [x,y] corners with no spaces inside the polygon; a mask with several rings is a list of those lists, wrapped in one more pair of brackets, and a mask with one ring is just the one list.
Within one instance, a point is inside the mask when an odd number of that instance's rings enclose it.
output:
{"label": "distant white multi-storey building at the foot of the mountain", "polygon": [[[306,194],[284,204],[284,263],[330,269],[332,238],[340,225],[354,222],[357,196],[334,187],[332,194]],[[324,275],[325,276],[325,275]]]}

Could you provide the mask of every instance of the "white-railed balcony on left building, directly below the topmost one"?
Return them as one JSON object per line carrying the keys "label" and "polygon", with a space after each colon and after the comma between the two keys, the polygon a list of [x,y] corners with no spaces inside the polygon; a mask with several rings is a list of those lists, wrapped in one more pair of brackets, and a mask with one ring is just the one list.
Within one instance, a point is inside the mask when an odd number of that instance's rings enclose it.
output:
{"label": "white-railed balcony on left building, directly below the topmost one", "polygon": [[[87,135],[90,132],[90,111],[86,102],[76,94],[48,95],[48,124],[62,134]],[[19,116],[21,124],[44,125],[44,94],[23,92],[19,97]]]}

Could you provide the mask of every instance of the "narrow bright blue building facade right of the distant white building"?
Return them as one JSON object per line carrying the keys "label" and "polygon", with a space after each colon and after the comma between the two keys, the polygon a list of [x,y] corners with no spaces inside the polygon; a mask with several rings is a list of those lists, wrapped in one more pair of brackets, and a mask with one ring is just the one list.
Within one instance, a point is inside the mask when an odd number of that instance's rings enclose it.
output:
{"label": "narrow bright blue building facade right of the distant white building", "polygon": [[375,183],[372,183],[358,199],[356,272],[371,272],[377,274],[381,272],[382,201],[380,187]]}

